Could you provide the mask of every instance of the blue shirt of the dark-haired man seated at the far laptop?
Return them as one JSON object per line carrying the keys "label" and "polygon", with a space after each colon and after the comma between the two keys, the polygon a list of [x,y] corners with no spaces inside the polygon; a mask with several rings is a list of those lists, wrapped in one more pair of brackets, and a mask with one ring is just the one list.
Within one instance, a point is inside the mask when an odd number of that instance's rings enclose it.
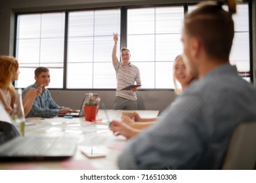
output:
{"label": "blue shirt of the dark-haired man seated at the far laptop", "polygon": [[[31,88],[37,89],[38,86],[35,83],[25,88],[22,92],[22,98],[26,95],[26,93],[28,93],[28,90],[30,90]],[[30,113],[28,113],[26,117],[29,118],[56,116],[59,114],[59,110],[63,108],[65,107],[60,107],[54,102],[51,93],[47,88],[45,88],[41,95],[35,98]]]}

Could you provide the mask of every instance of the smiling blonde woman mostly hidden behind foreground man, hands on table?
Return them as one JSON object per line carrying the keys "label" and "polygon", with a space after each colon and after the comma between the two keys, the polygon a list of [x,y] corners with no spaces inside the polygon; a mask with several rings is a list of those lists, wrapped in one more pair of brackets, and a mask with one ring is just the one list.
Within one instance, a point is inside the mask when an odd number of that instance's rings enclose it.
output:
{"label": "smiling blonde woman mostly hidden behind foreground man, hands on table", "polygon": [[[193,77],[188,72],[182,56],[177,56],[173,63],[173,83],[175,86],[175,93],[179,95],[192,80]],[[113,121],[110,129],[115,135],[123,135],[127,139],[130,139],[140,133],[141,129],[154,124],[156,119],[157,118],[140,118],[137,112],[133,112],[132,119],[128,116],[122,116],[122,122]]]}

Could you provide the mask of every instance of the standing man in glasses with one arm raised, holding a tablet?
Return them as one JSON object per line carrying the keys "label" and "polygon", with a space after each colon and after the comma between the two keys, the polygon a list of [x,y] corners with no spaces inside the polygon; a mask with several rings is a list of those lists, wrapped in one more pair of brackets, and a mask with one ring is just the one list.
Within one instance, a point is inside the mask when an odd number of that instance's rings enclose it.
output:
{"label": "standing man in glasses with one arm raised, holding a tablet", "polygon": [[141,84],[140,70],[135,65],[131,64],[131,54],[127,48],[121,48],[121,63],[116,56],[118,34],[114,33],[114,48],[112,52],[112,63],[116,70],[117,89],[116,99],[114,102],[115,110],[137,110],[137,88],[131,90],[121,90],[127,86]]}

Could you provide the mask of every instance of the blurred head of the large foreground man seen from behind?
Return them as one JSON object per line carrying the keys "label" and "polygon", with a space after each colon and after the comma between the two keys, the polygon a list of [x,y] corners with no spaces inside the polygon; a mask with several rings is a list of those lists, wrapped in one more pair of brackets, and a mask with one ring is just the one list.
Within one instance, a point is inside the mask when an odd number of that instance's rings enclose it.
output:
{"label": "blurred head of the large foreground man seen from behind", "polygon": [[184,56],[191,72],[198,75],[198,56],[204,54],[220,63],[227,63],[234,38],[232,14],[217,2],[200,3],[186,14],[182,31]]}

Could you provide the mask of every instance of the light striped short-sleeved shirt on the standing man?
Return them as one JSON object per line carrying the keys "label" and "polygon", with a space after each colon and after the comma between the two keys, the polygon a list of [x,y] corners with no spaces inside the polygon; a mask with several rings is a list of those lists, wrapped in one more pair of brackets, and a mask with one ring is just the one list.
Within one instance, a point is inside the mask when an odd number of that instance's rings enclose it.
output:
{"label": "light striped short-sleeved shirt on the standing man", "polygon": [[130,99],[133,101],[137,100],[137,95],[135,92],[124,91],[121,90],[127,86],[130,86],[132,84],[140,83],[140,71],[139,68],[135,65],[130,64],[129,65],[123,65],[123,63],[120,63],[117,61],[116,65],[113,64],[114,69],[116,70],[116,78],[117,78],[117,89],[116,89],[116,96],[117,97],[123,97],[125,99]]}

